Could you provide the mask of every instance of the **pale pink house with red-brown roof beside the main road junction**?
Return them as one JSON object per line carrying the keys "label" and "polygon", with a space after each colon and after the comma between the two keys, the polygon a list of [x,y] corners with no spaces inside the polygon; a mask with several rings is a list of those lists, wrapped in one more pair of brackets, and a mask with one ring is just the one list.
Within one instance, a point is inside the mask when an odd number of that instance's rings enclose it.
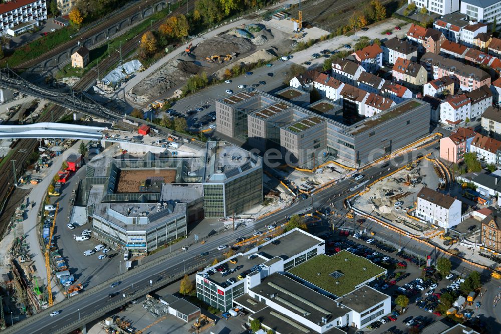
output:
{"label": "pale pink house with red-brown roof beside the main road junction", "polygon": [[476,131],[469,127],[460,127],[452,131],[448,137],[440,139],[440,159],[459,163],[464,160],[464,154],[470,151],[470,144]]}

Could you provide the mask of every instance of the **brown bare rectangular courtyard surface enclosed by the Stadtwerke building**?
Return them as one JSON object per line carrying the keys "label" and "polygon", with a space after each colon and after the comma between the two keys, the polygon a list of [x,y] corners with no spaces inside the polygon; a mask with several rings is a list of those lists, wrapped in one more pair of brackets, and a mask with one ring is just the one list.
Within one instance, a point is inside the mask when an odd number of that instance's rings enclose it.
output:
{"label": "brown bare rectangular courtyard surface enclosed by the Stadtwerke building", "polygon": [[[115,189],[117,194],[130,194],[140,192],[160,192],[162,183],[174,183],[176,170],[134,170],[120,171],[118,184]],[[143,187],[141,187],[143,186]]]}

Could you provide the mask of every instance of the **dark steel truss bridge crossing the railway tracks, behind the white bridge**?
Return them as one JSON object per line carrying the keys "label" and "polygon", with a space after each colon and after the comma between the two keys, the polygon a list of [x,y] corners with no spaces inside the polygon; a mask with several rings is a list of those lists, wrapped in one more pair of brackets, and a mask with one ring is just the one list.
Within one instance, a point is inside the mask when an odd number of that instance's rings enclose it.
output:
{"label": "dark steel truss bridge crossing the railway tracks, behind the white bridge", "polygon": [[91,117],[100,117],[107,120],[121,118],[121,115],[118,112],[101,106],[92,100],[89,95],[83,92],[72,91],[71,93],[62,93],[43,88],[26,81],[9,68],[0,70],[0,87],[12,89],[33,97],[38,97]]}

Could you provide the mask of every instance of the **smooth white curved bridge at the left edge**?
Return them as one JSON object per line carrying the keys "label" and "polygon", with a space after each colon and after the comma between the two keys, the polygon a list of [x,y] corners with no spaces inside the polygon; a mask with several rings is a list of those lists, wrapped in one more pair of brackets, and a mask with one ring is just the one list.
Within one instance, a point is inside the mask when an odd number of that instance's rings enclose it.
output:
{"label": "smooth white curved bridge at the left edge", "polygon": [[34,123],[26,125],[0,125],[0,138],[72,138],[100,140],[105,127],[67,123]]}

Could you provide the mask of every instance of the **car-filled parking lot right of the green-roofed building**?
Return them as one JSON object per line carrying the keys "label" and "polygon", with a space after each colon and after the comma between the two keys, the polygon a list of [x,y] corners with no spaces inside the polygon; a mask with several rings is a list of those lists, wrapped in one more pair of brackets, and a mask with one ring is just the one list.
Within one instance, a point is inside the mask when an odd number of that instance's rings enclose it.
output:
{"label": "car-filled parking lot right of the green-roofed building", "polygon": [[[392,296],[394,307],[391,314],[361,328],[364,332],[403,334],[410,332],[412,327],[416,331],[422,330],[434,321],[443,319],[438,311],[440,297],[443,293],[449,293],[454,299],[457,298],[459,284],[463,278],[457,275],[441,277],[434,269],[426,267],[424,256],[413,254],[412,251],[398,250],[392,245],[371,238],[371,235],[361,236],[355,233],[350,236],[352,234],[353,232],[348,230],[338,230],[335,236],[324,236],[327,240],[326,253],[332,255],[346,249],[386,268],[388,276],[371,283],[371,286]],[[396,297],[401,294],[409,298],[409,306],[404,312],[395,304]],[[470,312],[473,321],[481,322],[481,307]]]}

